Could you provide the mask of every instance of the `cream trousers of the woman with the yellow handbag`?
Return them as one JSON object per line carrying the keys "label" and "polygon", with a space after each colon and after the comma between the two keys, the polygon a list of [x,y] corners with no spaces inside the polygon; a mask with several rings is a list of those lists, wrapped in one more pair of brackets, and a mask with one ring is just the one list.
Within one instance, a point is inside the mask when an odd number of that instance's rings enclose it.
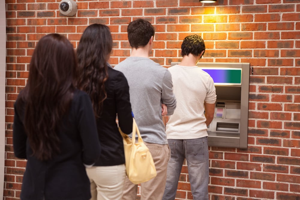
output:
{"label": "cream trousers of the woman with the yellow handbag", "polygon": [[91,200],[120,200],[126,177],[125,164],[86,168],[91,182]]}

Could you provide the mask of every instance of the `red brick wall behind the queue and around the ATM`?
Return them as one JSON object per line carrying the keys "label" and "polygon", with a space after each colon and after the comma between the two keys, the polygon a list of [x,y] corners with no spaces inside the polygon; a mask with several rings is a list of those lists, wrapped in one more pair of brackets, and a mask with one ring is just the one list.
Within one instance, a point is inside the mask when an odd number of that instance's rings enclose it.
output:
{"label": "red brick wall behind the queue and around the ATM", "polygon": [[[60,15],[60,0],[5,0],[7,21],[4,199],[19,199],[26,161],[14,157],[13,103],[26,84],[41,36],[57,32],[76,47],[85,27],[107,24],[110,63],[130,55],[127,24],[138,17],[156,28],[152,59],[180,60],[182,39],[201,34],[205,62],[250,62],[248,149],[210,147],[210,199],[300,198],[300,1],[77,0],[76,17]],[[192,199],[187,167],[177,199]]]}

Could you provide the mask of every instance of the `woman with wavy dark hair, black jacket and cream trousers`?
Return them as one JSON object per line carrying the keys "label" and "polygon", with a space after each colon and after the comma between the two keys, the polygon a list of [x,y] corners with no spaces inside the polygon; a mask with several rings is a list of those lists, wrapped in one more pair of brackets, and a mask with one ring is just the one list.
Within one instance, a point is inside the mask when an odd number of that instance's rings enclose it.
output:
{"label": "woman with wavy dark hair, black jacket and cream trousers", "polygon": [[[129,86],[122,72],[107,61],[113,48],[106,25],[89,25],[77,48],[78,87],[91,97],[102,147],[95,165],[86,169],[91,182],[92,200],[119,200],[125,181],[123,140],[116,124],[126,134],[132,132]],[[97,150],[95,150],[97,151]]]}

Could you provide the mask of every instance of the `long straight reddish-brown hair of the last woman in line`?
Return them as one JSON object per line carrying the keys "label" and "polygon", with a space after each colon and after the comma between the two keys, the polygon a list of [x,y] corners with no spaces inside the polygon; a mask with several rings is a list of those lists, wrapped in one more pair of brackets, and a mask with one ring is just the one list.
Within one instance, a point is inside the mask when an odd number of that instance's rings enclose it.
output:
{"label": "long straight reddish-brown hair of the last woman in line", "polygon": [[60,34],[44,36],[33,52],[29,67],[28,82],[16,106],[24,109],[23,124],[33,156],[45,161],[60,152],[58,126],[76,86],[73,45]]}

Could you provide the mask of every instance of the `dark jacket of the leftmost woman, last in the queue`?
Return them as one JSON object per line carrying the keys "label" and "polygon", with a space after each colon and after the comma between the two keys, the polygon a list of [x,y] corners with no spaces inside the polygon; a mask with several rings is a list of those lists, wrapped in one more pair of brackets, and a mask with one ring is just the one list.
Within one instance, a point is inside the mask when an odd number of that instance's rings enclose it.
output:
{"label": "dark jacket of the leftmost woman, last in the queue", "polygon": [[27,159],[21,191],[22,200],[87,200],[91,198],[85,166],[101,153],[95,115],[85,92],[76,90],[58,136],[61,153],[41,162],[32,156],[24,126],[24,106],[15,103],[13,149],[16,157]]}

